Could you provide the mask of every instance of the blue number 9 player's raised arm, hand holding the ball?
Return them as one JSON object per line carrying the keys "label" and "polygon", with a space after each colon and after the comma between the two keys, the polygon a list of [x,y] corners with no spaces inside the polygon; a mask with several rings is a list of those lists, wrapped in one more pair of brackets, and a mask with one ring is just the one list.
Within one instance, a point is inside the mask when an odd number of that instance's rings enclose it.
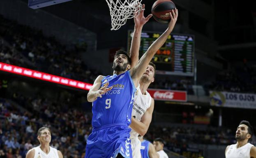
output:
{"label": "blue number 9 player's raised arm, hand holding the ball", "polygon": [[161,48],[161,46],[165,43],[166,39],[168,38],[169,34],[172,32],[175,26],[178,18],[178,10],[175,8],[175,10],[172,10],[172,12],[170,12],[169,14],[171,16],[171,22],[168,24],[167,30],[148,48],[148,50],[138,61],[138,64],[134,67],[134,69],[131,69],[131,77],[134,81],[135,86],[138,85],[137,82],[138,80],[140,80],[141,76],[145,72],[148,63],[155,55],[157,50],[159,50],[159,48]]}

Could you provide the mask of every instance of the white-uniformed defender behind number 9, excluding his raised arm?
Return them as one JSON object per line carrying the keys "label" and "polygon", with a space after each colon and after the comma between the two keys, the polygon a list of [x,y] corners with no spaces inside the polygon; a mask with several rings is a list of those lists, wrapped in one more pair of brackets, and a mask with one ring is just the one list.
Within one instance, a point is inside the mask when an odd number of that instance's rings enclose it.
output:
{"label": "white-uniformed defender behind number 9, excluding his raised arm", "polygon": [[141,141],[138,135],[145,135],[152,120],[154,110],[154,99],[147,92],[148,86],[154,81],[155,64],[150,62],[143,74],[140,84],[134,95],[134,104],[131,113],[131,148],[133,158],[141,157]]}

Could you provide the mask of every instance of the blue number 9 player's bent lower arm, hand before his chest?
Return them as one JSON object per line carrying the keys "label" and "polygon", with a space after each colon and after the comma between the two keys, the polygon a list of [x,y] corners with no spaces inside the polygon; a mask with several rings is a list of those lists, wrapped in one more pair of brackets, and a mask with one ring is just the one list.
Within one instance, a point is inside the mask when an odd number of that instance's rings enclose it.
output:
{"label": "blue number 9 player's bent lower arm, hand before his chest", "polygon": [[108,92],[111,90],[113,87],[108,87],[108,82],[106,82],[102,87],[101,86],[101,80],[103,79],[104,76],[100,75],[96,78],[94,81],[92,87],[90,88],[88,94],[87,94],[87,100],[89,102],[95,101],[98,97],[101,97],[102,94]]}

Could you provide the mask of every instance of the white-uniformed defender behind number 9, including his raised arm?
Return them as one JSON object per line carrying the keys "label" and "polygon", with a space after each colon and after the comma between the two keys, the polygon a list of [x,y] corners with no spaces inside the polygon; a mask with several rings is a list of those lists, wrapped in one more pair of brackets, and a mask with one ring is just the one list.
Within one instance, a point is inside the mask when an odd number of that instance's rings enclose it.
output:
{"label": "white-uniformed defender behind number 9, including his raised arm", "polygon": [[[145,5],[143,5],[143,9],[144,8]],[[173,11],[173,15],[175,16],[176,21],[178,17],[177,9],[175,9],[175,13]],[[135,26],[130,50],[131,68],[138,64],[142,27],[151,17],[152,14],[145,18],[144,11],[141,11],[141,13],[134,18]],[[134,105],[130,124],[130,127],[132,128],[130,139],[133,158],[141,158],[141,141],[138,139],[138,135],[145,135],[145,133],[147,133],[152,120],[155,102],[147,92],[147,89],[150,83],[154,82],[154,77],[155,64],[150,62],[141,80],[139,81],[139,87],[137,87],[137,91],[134,96]]]}

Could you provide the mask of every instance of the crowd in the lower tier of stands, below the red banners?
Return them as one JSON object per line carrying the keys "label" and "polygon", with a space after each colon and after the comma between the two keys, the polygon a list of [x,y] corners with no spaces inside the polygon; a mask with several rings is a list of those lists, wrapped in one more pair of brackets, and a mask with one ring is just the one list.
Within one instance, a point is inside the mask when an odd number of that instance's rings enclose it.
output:
{"label": "crowd in the lower tier of stands, below the red banners", "polygon": [[[5,154],[6,158],[25,158],[27,151],[39,144],[37,130],[46,126],[51,129],[51,146],[62,151],[64,158],[83,158],[86,140],[92,130],[89,111],[42,98],[28,99],[29,110],[22,111],[15,105],[18,100],[0,98],[1,156]],[[162,137],[165,147],[175,152],[193,143],[235,143],[234,133],[230,129],[214,127],[151,125],[145,138],[153,141],[156,137]],[[256,143],[255,138],[253,141]]]}

